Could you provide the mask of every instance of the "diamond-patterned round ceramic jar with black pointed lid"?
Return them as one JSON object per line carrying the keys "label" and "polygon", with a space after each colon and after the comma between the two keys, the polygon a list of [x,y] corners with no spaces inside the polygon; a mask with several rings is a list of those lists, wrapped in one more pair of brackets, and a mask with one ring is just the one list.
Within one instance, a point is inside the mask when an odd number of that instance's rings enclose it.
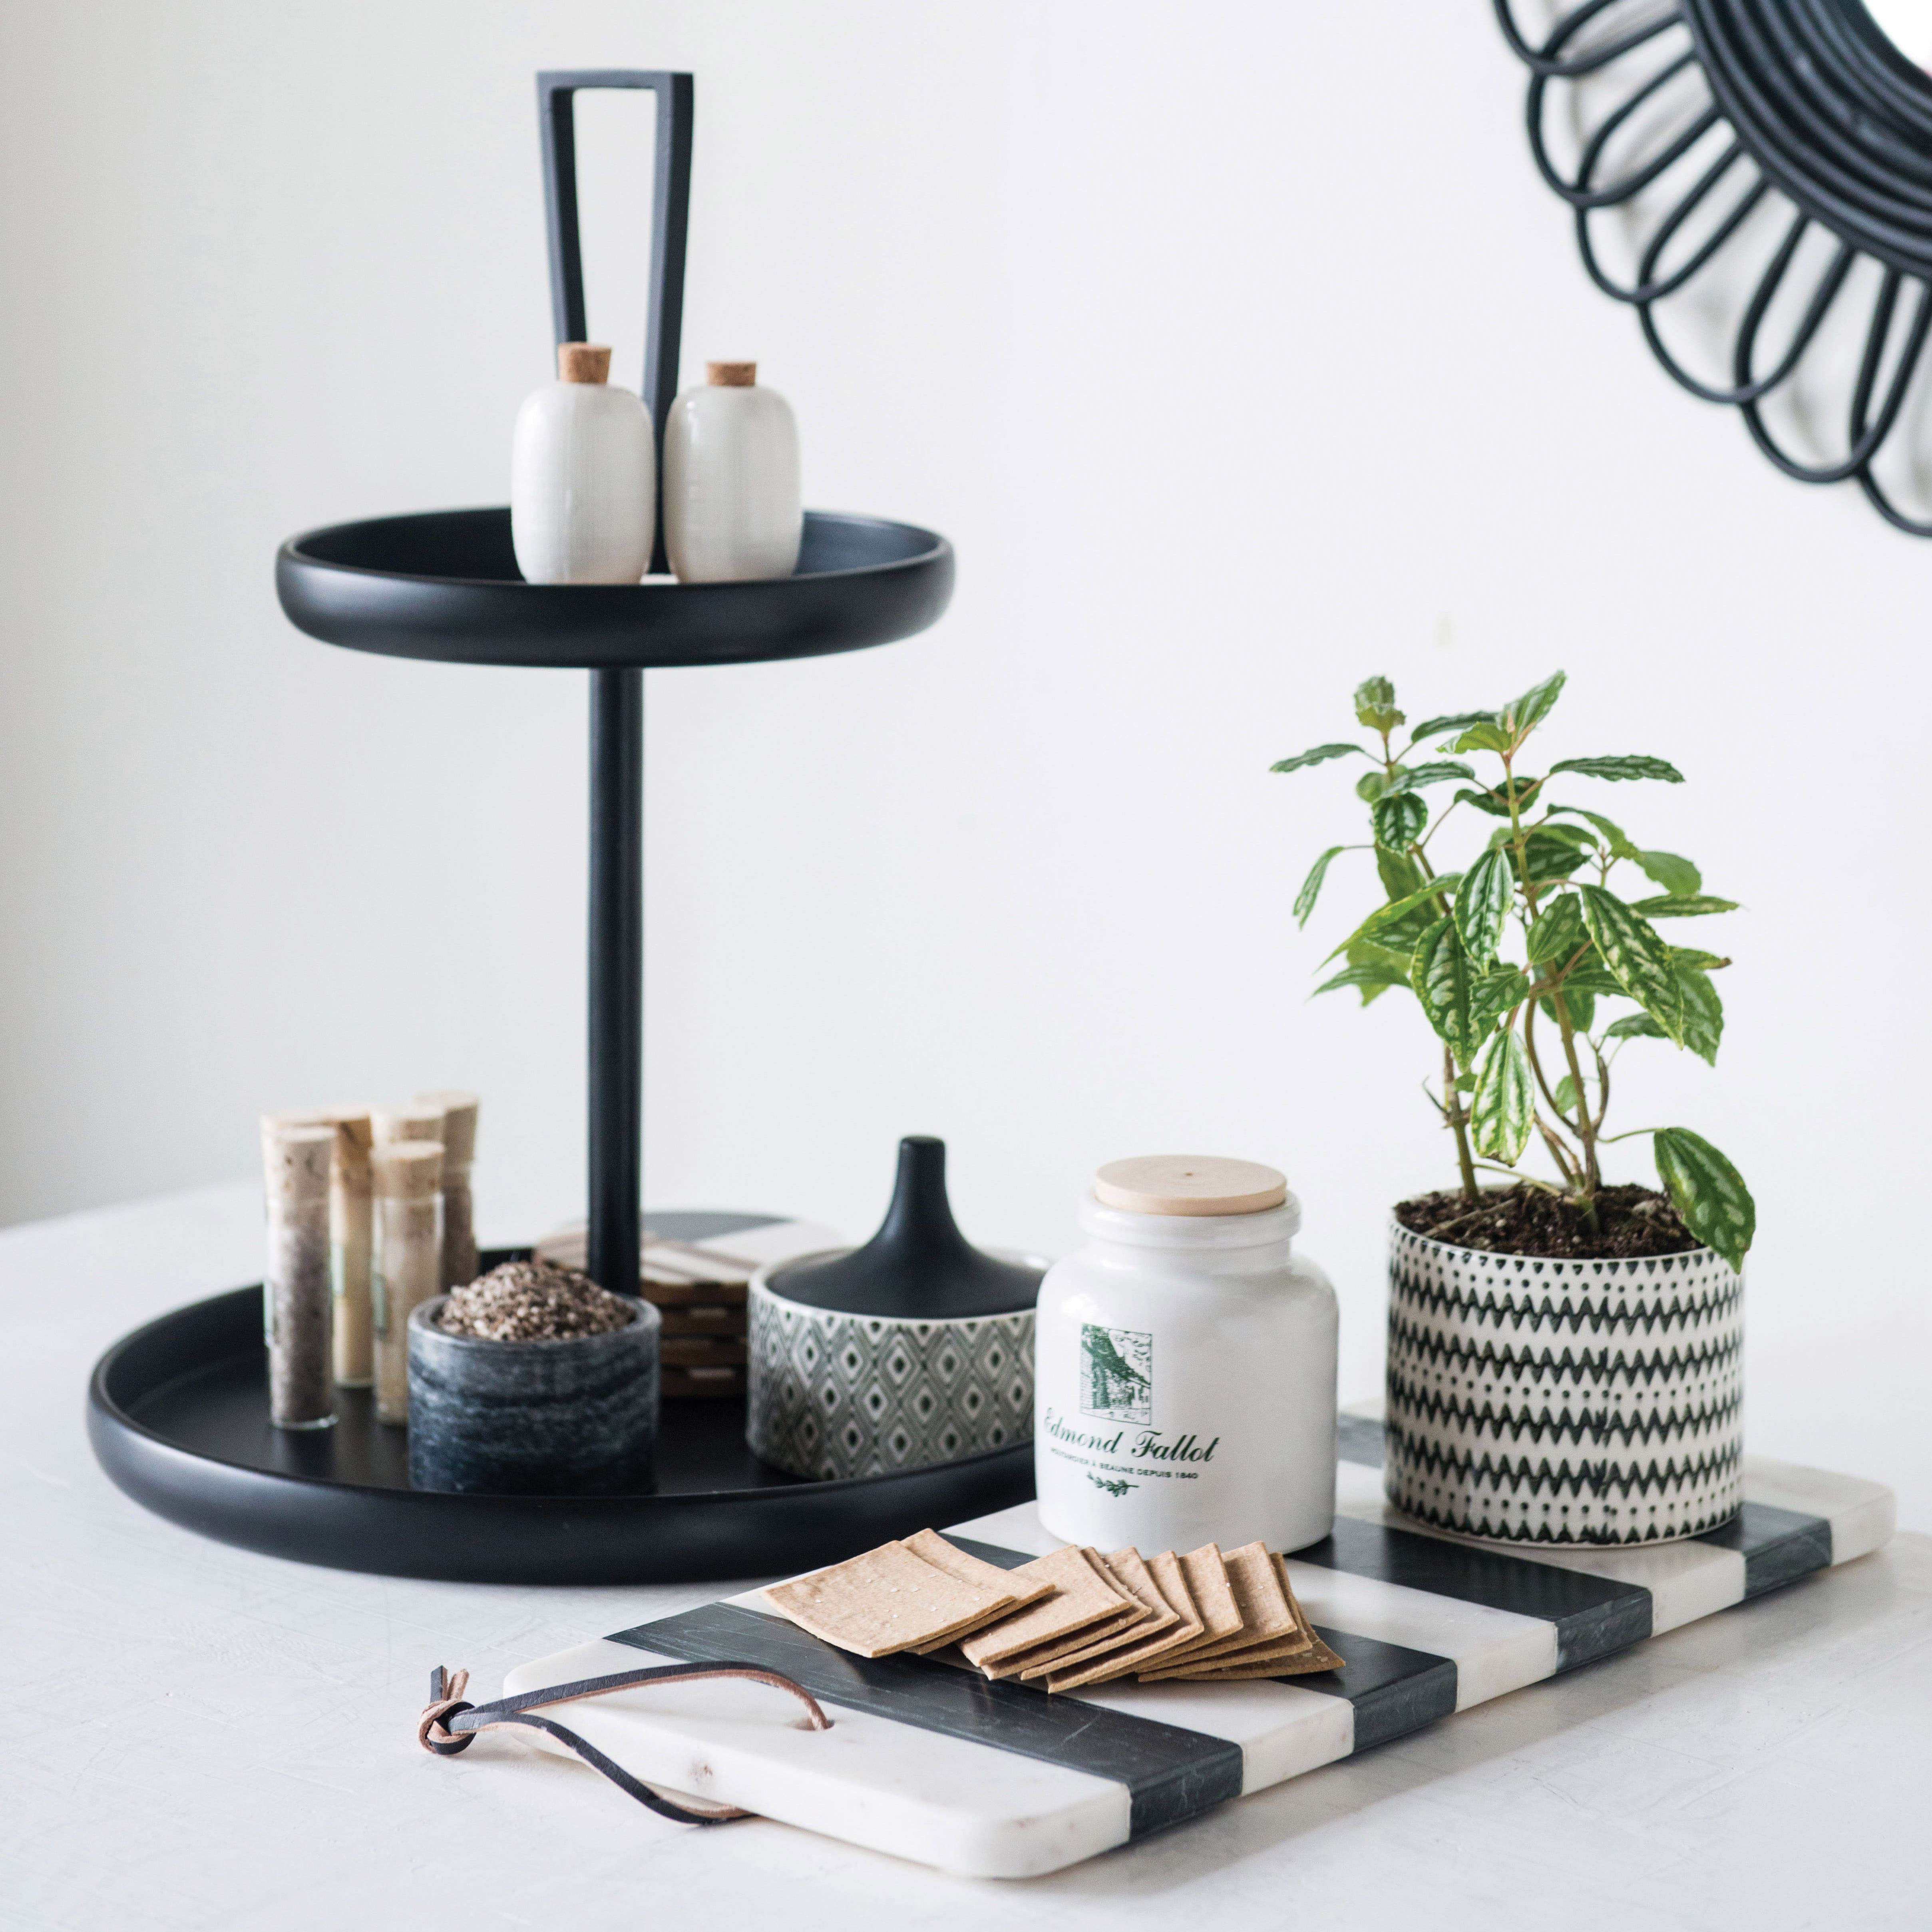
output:
{"label": "diamond-patterned round ceramic jar with black pointed lid", "polygon": [[947,1148],[898,1144],[864,1248],[752,1277],[744,1439],[794,1476],[889,1476],[1034,1434],[1034,1302],[1045,1262],[974,1248],[947,1202]]}

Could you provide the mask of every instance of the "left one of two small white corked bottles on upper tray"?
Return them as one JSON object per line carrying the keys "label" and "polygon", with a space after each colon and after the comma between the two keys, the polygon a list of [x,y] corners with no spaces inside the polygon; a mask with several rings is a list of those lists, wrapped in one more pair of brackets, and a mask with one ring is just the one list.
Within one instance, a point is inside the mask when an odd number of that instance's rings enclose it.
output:
{"label": "left one of two small white corked bottles on upper tray", "polygon": [[556,350],[560,381],[516,412],[510,543],[527,583],[636,583],[657,535],[657,442],[628,388],[611,388],[611,352]]}

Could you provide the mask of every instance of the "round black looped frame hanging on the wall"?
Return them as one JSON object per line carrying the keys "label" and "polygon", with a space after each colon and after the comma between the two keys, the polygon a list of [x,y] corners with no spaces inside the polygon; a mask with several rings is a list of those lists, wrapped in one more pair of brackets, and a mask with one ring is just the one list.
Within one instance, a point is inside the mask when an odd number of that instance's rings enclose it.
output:
{"label": "round black looped frame hanging on the wall", "polygon": [[1785,475],[1857,479],[1932,537],[1911,433],[1932,392],[1932,75],[1862,0],[1584,0],[1534,44],[1515,0],[1493,4],[1530,70],[1536,166],[1656,359]]}

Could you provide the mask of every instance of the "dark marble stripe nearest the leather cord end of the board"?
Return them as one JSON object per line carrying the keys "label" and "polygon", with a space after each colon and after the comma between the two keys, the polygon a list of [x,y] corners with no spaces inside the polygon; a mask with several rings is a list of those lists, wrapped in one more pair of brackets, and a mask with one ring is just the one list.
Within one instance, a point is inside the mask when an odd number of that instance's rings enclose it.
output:
{"label": "dark marble stripe nearest the leather cord end of the board", "polygon": [[1240,1745],[1225,1737],[1045,1696],[1030,1685],[987,1683],[927,1658],[854,1658],[736,1604],[639,1623],[611,1642],[696,1663],[761,1663],[846,1710],[1113,1779],[1126,1785],[1134,1837],[1240,1797]]}

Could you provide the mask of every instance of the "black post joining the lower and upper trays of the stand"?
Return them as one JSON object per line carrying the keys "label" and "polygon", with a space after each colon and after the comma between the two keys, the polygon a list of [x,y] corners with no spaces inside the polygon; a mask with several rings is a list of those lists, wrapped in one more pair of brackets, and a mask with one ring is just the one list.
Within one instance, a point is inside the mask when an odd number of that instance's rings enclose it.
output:
{"label": "black post joining the lower and upper trays of the stand", "polygon": [[643,1169],[643,672],[591,672],[589,1275],[638,1293]]}

